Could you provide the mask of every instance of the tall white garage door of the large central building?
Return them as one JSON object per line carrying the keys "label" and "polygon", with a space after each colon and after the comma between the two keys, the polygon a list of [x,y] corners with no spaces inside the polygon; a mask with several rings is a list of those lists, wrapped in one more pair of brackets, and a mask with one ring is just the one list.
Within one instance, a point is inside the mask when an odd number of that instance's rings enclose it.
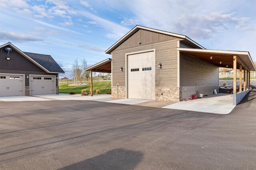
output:
{"label": "tall white garage door of the large central building", "polygon": [[154,52],[128,55],[128,98],[155,99]]}

